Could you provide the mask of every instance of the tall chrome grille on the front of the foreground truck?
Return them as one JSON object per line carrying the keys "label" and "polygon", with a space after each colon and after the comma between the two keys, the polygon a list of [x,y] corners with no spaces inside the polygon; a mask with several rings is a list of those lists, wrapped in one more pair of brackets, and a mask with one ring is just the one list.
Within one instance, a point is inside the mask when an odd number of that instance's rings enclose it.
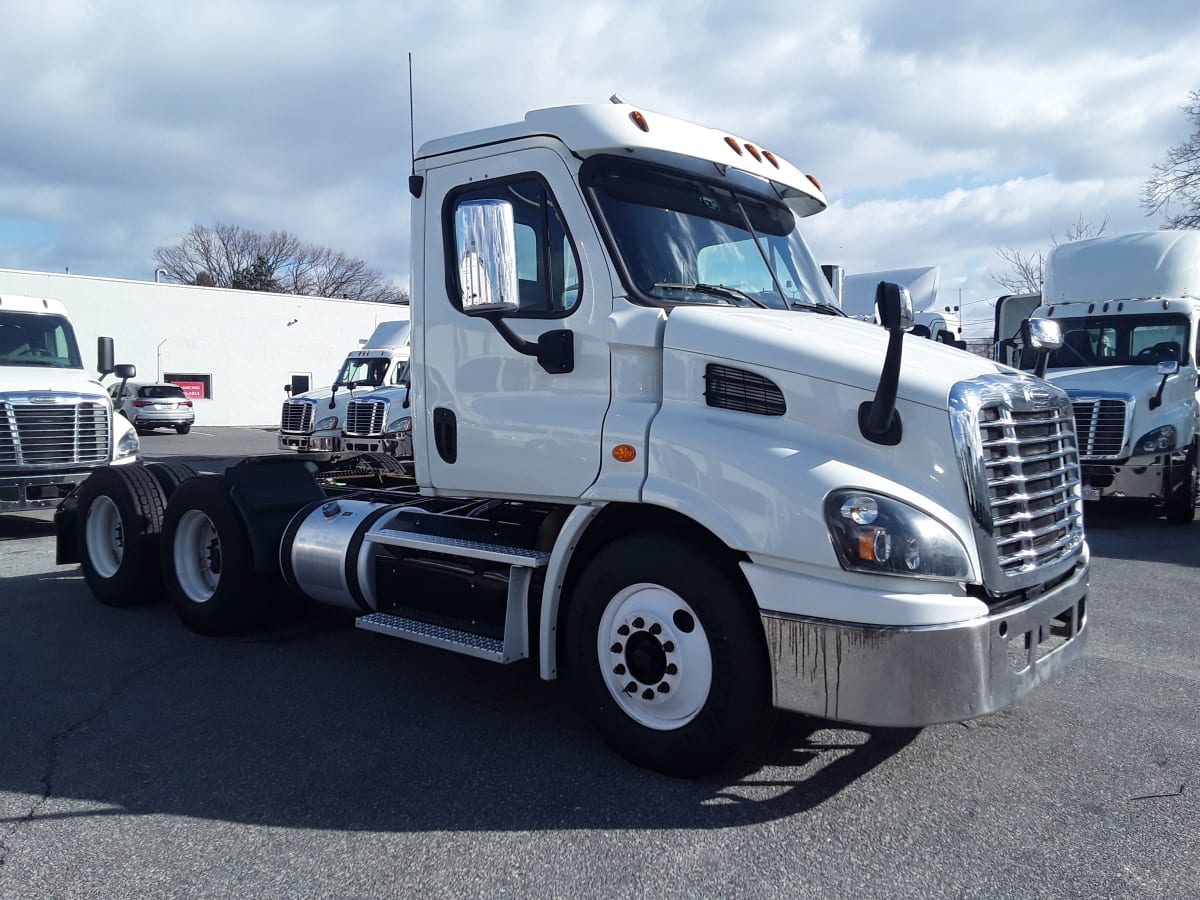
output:
{"label": "tall chrome grille on the front of the foreground truck", "polygon": [[950,398],[985,581],[1020,589],[1070,569],[1084,550],[1070,401],[1026,378],[979,378]]}

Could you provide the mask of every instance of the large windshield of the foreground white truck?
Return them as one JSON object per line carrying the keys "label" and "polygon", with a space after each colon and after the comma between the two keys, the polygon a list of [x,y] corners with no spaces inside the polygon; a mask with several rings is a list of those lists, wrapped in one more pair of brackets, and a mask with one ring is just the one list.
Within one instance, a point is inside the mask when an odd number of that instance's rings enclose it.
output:
{"label": "large windshield of the foreground white truck", "polygon": [[612,157],[590,161],[583,178],[643,302],[838,308],[773,193]]}

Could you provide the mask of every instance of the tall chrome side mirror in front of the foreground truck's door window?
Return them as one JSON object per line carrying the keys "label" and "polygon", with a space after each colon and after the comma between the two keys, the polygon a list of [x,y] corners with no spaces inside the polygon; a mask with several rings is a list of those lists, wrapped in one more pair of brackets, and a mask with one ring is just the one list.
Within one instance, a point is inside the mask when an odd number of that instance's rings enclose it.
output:
{"label": "tall chrome side mirror in front of the foreground truck's door window", "polygon": [[517,238],[508,200],[463,200],[454,216],[462,311],[468,316],[521,308]]}

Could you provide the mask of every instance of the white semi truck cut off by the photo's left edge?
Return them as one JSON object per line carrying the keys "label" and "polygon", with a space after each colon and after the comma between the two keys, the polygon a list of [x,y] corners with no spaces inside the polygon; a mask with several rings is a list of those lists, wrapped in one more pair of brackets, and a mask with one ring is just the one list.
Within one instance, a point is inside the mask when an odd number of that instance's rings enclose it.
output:
{"label": "white semi truck cut off by the photo's left edge", "polygon": [[[98,341],[101,376],[132,378]],[[138,436],[100,382],[84,372],[66,307],[0,295],[0,512],[49,509],[92,470],[133,462]]]}

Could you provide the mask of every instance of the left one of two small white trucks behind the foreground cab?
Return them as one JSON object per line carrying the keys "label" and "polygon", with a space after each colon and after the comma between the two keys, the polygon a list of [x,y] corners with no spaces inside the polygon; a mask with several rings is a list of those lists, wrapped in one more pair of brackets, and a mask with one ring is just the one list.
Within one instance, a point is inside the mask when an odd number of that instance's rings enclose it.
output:
{"label": "left one of two small white trucks behind the foreground cab", "polygon": [[407,319],[380,322],[364,347],[346,355],[330,386],[283,401],[280,449],[341,452],[342,428],[350,402],[400,383],[408,364],[408,332]]}

